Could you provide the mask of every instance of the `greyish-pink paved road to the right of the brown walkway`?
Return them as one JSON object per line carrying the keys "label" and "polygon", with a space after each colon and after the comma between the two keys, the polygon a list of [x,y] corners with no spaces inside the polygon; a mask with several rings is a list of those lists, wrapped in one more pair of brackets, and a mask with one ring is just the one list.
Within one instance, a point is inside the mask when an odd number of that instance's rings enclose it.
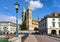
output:
{"label": "greyish-pink paved road to the right of the brown walkway", "polygon": [[60,40],[56,40],[55,38],[51,38],[46,35],[35,35],[37,42],[60,42]]}

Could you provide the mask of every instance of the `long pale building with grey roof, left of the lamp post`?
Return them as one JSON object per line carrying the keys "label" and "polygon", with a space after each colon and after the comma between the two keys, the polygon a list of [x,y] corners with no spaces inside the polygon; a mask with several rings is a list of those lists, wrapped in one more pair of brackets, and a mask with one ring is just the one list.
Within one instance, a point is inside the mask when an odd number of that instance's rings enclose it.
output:
{"label": "long pale building with grey roof, left of the lamp post", "polygon": [[14,33],[16,31],[16,24],[9,21],[0,22],[0,31],[3,31],[4,34]]}

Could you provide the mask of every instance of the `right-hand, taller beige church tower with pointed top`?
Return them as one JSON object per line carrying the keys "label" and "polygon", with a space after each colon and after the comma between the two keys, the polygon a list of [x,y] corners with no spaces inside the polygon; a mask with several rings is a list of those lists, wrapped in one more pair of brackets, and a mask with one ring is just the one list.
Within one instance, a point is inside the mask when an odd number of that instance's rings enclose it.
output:
{"label": "right-hand, taller beige church tower with pointed top", "polygon": [[27,17],[26,17],[27,27],[29,30],[32,30],[32,11],[30,8],[30,3],[28,4]]}

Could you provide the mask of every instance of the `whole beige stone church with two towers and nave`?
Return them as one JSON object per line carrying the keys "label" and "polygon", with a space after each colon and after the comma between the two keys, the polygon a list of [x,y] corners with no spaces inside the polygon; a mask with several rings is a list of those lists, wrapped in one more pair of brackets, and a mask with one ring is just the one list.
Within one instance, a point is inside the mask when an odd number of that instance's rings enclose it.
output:
{"label": "whole beige stone church with two towers and nave", "polygon": [[30,4],[28,4],[27,10],[24,7],[22,9],[22,22],[26,22],[28,30],[34,30],[35,27],[38,27],[38,25],[34,24],[34,22],[38,24],[37,20],[32,19]]}

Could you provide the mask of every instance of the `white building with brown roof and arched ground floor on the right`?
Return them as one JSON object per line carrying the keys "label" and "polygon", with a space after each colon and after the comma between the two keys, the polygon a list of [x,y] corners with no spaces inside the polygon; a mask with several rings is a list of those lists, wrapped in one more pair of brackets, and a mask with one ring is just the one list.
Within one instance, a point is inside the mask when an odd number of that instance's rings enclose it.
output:
{"label": "white building with brown roof and arched ground floor on the right", "polygon": [[46,15],[39,22],[40,33],[60,35],[60,13],[54,12]]}

